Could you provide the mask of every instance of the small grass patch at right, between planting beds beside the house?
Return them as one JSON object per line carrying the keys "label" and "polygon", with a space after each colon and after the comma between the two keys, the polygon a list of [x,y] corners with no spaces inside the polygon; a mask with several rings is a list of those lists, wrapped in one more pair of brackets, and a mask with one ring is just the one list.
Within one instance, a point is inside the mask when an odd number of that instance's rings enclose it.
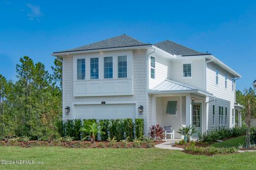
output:
{"label": "small grass patch at right, between planting beds beside the house", "polygon": [[237,148],[239,146],[239,144],[243,145],[244,142],[245,142],[245,136],[242,136],[242,137],[228,139],[223,142],[217,142],[217,143],[214,143],[212,146],[218,147],[218,148],[227,148],[227,147],[236,147]]}

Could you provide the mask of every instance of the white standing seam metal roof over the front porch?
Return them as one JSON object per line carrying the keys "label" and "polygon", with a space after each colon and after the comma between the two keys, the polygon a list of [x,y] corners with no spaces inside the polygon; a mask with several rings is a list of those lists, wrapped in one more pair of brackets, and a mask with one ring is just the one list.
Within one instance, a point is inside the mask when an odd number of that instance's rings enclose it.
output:
{"label": "white standing seam metal roof over the front porch", "polygon": [[206,96],[214,97],[213,94],[209,92],[198,90],[194,87],[182,84],[180,82],[172,81],[166,79],[162,83],[158,84],[156,87],[148,91],[149,94],[178,94],[178,93],[199,93]]}

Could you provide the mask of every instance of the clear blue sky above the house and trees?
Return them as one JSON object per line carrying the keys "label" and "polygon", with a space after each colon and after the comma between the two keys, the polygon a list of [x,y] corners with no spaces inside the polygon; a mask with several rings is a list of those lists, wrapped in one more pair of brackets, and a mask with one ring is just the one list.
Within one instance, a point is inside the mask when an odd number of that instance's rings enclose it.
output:
{"label": "clear blue sky above the house and trees", "polygon": [[52,52],[126,33],[208,51],[242,75],[243,90],[256,79],[255,8],[255,1],[0,0],[0,74],[17,80],[25,55],[51,71]]}

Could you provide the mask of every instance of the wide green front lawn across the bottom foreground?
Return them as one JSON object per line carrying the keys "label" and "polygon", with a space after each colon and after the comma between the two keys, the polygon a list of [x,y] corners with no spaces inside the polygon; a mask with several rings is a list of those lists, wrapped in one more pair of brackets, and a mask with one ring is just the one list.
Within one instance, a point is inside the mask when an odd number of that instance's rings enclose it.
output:
{"label": "wide green front lawn across the bottom foreground", "polygon": [[190,155],[177,150],[0,147],[0,160],[35,160],[43,165],[1,165],[0,169],[255,169],[256,152]]}

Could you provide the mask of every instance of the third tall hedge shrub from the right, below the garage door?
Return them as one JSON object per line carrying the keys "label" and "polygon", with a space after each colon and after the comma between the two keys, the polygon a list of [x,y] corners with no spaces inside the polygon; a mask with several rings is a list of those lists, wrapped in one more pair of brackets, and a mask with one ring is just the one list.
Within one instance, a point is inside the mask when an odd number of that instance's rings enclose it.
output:
{"label": "third tall hedge shrub from the right, below the garage door", "polygon": [[124,139],[124,130],[123,130],[123,120],[111,120],[111,125],[109,127],[109,137],[116,137],[117,141]]}

